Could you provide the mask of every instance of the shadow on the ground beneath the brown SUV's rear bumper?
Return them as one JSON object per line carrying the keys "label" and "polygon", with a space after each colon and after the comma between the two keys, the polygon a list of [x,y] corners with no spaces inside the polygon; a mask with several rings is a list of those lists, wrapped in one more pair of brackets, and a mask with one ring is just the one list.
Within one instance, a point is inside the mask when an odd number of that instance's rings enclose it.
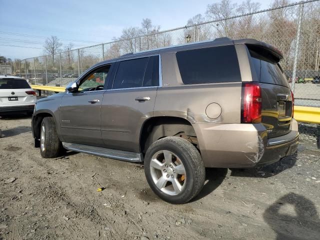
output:
{"label": "shadow on the ground beneath the brown SUV's rear bumper", "polygon": [[288,168],[295,165],[297,155],[299,153],[294,153],[292,156],[285,156],[277,162],[270,165],[257,167],[257,168],[230,168],[231,176],[243,176],[243,177],[270,177],[276,175]]}

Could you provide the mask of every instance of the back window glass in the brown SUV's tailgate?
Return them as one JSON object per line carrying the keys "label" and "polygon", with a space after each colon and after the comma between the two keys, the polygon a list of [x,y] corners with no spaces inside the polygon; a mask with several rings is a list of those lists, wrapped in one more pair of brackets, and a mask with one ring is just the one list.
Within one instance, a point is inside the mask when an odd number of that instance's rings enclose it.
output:
{"label": "back window glass in the brown SUV's tailgate", "polygon": [[260,82],[288,86],[280,67],[266,59],[251,57],[256,75]]}

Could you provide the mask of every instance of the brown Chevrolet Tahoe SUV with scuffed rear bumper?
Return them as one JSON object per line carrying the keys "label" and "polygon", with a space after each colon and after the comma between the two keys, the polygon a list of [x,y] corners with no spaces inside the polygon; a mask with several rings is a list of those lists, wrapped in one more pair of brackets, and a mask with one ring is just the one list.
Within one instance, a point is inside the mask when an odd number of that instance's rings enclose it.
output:
{"label": "brown Chevrolet Tahoe SUV with scuffed rear bumper", "polygon": [[264,42],[217,38],[102,61],[66,92],[38,100],[35,146],[42,157],[64,147],[143,161],[160,198],[187,202],[204,167],[257,167],[296,151],[281,58]]}

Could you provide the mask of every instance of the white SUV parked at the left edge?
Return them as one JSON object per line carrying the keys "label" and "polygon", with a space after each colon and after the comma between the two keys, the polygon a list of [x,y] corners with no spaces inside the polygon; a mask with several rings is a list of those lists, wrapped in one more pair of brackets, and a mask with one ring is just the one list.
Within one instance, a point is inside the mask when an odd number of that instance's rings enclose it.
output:
{"label": "white SUV parked at the left edge", "polygon": [[18,76],[0,75],[0,115],[4,113],[32,113],[36,93],[29,83]]}

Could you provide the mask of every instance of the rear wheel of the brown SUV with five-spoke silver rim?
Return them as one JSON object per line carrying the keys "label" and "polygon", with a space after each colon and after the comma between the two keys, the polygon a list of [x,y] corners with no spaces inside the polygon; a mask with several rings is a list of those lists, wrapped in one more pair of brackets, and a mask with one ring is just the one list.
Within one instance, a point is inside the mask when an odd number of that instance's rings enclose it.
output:
{"label": "rear wheel of the brown SUV with five-spoke silver rim", "polygon": [[205,179],[199,151],[187,140],[176,136],[161,138],[149,146],[144,158],[144,173],[152,191],[172,204],[191,200],[200,192]]}

